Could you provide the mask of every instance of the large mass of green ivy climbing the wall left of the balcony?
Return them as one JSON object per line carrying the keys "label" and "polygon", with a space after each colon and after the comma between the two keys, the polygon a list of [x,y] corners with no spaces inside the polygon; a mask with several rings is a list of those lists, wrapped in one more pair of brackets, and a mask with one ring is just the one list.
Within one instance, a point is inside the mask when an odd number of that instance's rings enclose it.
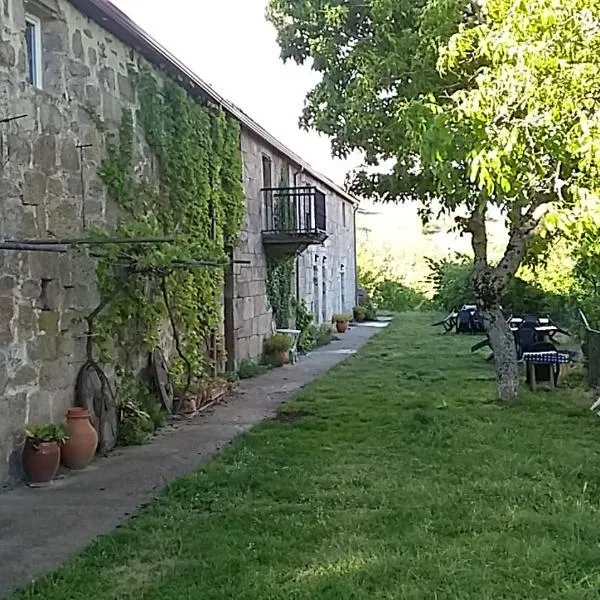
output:
{"label": "large mass of green ivy climbing the wall left of the balcony", "polygon": [[106,246],[98,282],[111,302],[95,341],[103,360],[131,369],[141,350],[159,343],[169,316],[180,351],[173,374],[189,387],[202,379],[203,344],[221,324],[223,270],[197,268],[197,261],[225,263],[244,215],[240,131],[221,110],[170,80],[159,83],[147,67],[132,79],[138,111],[123,111],[100,176],[123,211],[117,235],[175,241]]}

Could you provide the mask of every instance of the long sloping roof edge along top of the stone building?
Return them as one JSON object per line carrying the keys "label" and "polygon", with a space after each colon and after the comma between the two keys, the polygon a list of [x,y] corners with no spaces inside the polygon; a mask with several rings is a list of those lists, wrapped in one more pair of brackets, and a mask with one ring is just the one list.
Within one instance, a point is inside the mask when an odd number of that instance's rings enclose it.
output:
{"label": "long sloping roof edge along top of the stone building", "polygon": [[309,163],[282,144],[275,136],[251,119],[241,109],[221,96],[112,2],[109,2],[109,0],[69,0],[69,2],[81,13],[139,52],[156,67],[166,71],[177,82],[184,85],[187,84],[190,91],[200,92],[208,97],[238,121],[242,127],[245,127],[267,145],[285,155],[286,158],[302,171],[308,173],[349,202],[359,204],[358,198],[355,198],[344,188],[316,171]]}

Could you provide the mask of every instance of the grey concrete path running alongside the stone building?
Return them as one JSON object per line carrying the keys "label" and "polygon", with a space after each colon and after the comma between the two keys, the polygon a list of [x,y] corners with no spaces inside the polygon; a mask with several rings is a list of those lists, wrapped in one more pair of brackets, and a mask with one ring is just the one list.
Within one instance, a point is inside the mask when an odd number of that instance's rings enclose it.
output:
{"label": "grey concrete path running alongside the stone building", "polygon": [[151,444],[117,449],[50,487],[0,494],[0,598],[53,571],[96,536],[110,532],[171,481],[274,416],[304,385],[355,352],[386,323],[352,327],[339,341],[293,366],[241,382],[212,412],[166,428]]}

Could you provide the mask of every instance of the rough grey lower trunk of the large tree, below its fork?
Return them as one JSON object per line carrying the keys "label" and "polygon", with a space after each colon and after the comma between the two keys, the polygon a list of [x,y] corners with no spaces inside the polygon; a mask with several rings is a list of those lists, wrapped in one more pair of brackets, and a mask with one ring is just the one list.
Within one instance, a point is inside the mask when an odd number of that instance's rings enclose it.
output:
{"label": "rough grey lower trunk of the large tree, below its fork", "polygon": [[515,340],[499,305],[483,308],[483,319],[496,364],[496,382],[501,400],[514,402],[519,391]]}

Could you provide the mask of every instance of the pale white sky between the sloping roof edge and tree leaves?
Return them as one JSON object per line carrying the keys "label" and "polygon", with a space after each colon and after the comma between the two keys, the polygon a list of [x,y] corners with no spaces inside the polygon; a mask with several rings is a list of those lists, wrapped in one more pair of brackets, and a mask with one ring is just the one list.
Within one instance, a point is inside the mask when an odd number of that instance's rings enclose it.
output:
{"label": "pale white sky between the sloping roof edge and tree leaves", "polygon": [[112,0],[222,96],[299,154],[343,184],[358,165],[331,157],[329,140],[302,131],[306,93],[318,81],[308,66],[283,64],[267,0]]}

